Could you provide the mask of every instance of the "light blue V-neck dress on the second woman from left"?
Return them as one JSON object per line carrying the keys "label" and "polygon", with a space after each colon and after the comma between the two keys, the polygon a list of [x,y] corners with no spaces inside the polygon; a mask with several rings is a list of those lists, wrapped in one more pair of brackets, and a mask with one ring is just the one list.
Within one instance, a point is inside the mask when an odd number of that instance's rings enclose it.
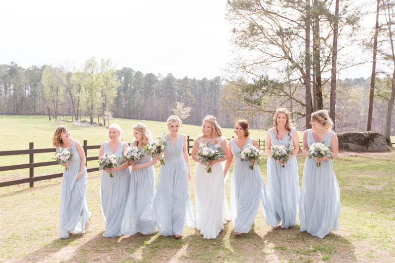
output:
{"label": "light blue V-neck dress on the second woman from left", "polygon": [[[111,153],[108,142],[104,142],[104,153]],[[127,143],[122,142],[115,152],[117,158],[122,156],[122,150]],[[130,172],[128,168],[114,171],[110,177],[102,171],[100,183],[100,201],[106,230],[104,237],[120,236],[122,234],[122,219],[125,211],[126,197],[129,190]]]}

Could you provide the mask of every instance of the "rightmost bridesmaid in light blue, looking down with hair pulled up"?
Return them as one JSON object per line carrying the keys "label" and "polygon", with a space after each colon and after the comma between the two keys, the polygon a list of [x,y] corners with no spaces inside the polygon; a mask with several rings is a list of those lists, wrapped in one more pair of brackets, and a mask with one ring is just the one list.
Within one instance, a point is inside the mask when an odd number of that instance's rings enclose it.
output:
{"label": "rightmost bridesmaid in light blue, looking down with hair pulled up", "polygon": [[[339,141],[331,130],[333,122],[328,113],[322,110],[312,113],[310,124],[312,128],[303,134],[303,154],[308,155],[306,149],[321,142],[330,147],[335,158]],[[316,167],[317,162],[321,163],[320,167]],[[299,203],[300,230],[323,238],[339,228],[339,216],[340,189],[332,160],[328,157],[306,157]]]}

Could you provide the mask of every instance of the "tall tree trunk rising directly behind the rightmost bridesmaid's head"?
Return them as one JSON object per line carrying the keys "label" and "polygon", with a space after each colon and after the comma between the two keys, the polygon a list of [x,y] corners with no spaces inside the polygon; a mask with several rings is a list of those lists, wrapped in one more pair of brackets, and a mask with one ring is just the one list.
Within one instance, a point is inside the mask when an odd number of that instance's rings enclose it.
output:
{"label": "tall tree trunk rising directly behind the rightmost bridesmaid's head", "polygon": [[339,0],[335,4],[335,17],[333,21],[333,46],[332,46],[332,69],[330,79],[329,117],[333,121],[333,131],[336,131],[336,63],[337,63],[337,35],[339,27]]}

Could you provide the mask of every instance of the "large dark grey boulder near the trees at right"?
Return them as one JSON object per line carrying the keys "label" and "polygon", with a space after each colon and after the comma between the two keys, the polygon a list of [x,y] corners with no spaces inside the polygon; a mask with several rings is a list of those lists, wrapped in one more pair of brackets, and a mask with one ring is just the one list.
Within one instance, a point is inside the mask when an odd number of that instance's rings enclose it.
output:
{"label": "large dark grey boulder near the trees at right", "polygon": [[386,138],[378,132],[340,132],[339,149],[350,151],[387,151]]}

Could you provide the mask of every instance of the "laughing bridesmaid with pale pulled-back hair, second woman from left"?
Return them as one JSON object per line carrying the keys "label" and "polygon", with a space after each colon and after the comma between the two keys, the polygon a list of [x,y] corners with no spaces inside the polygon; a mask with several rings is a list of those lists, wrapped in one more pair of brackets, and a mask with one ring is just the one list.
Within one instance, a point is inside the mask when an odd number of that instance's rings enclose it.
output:
{"label": "laughing bridesmaid with pale pulled-back hair, second woman from left", "polygon": [[[122,130],[118,124],[108,128],[109,141],[103,142],[99,150],[99,160],[104,153],[114,153],[122,157],[127,143],[121,141]],[[100,203],[106,230],[104,237],[120,236],[122,234],[122,219],[125,211],[126,196],[129,190],[130,172],[125,162],[115,168],[102,171],[100,182]],[[110,177],[110,173],[114,177]]]}

